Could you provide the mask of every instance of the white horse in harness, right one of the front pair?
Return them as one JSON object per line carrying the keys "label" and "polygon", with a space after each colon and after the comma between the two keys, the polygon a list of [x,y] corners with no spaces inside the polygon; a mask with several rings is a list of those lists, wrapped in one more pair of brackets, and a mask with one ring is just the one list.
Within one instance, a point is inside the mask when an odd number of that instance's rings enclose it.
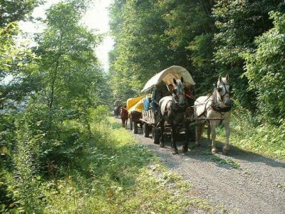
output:
{"label": "white horse in harness, right one of the front pair", "polygon": [[[227,155],[229,151],[229,118],[231,109],[231,93],[232,86],[229,85],[229,76],[221,77],[214,88],[214,92],[210,96],[200,96],[194,104],[195,117],[197,118],[223,118],[223,120],[208,119],[207,137],[210,143],[212,137],[212,153],[217,153],[216,148],[216,127],[220,124],[224,126],[226,131],[226,143],[223,147],[223,153]],[[199,123],[196,127],[196,146],[199,146],[199,139],[204,128],[203,123]]]}

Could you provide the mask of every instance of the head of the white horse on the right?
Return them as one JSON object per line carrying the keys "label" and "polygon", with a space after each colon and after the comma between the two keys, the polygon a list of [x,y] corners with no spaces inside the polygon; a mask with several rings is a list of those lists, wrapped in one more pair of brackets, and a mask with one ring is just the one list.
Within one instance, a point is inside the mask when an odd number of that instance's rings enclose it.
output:
{"label": "head of the white horse on the right", "polygon": [[229,85],[229,75],[226,75],[226,77],[221,77],[219,76],[219,80],[217,82],[216,86],[216,96],[217,96],[217,101],[218,105],[221,108],[226,108],[230,107],[232,104],[231,101],[231,91],[232,91],[232,86]]}

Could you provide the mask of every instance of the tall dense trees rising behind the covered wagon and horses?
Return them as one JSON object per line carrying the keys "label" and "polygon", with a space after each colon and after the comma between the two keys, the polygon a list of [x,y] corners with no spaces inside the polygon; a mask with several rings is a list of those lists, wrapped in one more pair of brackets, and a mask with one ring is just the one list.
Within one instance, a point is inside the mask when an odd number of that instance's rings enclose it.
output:
{"label": "tall dense trees rising behind the covered wagon and horses", "polygon": [[244,75],[245,56],[274,27],[270,11],[284,13],[284,1],[114,1],[110,63],[113,81],[120,80],[112,86],[115,96],[135,96],[155,73],[179,65],[197,82],[197,94],[211,92],[217,76],[229,74],[236,101],[257,112],[259,90]]}

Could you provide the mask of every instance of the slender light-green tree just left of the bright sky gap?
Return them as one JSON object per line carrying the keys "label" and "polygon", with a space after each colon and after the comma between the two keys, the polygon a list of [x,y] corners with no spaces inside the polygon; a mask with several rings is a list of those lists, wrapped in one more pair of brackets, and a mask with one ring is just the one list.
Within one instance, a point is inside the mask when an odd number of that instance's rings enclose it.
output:
{"label": "slender light-green tree just left of the bright sky gap", "polygon": [[50,109],[95,103],[102,74],[93,49],[101,36],[79,25],[87,3],[67,1],[52,6],[46,14],[47,29],[36,39],[41,60],[35,78]]}

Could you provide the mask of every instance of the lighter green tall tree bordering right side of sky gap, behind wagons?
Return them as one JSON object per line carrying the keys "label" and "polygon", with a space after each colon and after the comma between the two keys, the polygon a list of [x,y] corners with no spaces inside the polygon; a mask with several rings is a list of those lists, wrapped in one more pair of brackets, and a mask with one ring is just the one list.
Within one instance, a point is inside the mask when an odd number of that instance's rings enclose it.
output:
{"label": "lighter green tall tree bordering right side of sky gap, behind wagons", "polygon": [[[115,39],[113,86],[129,98],[138,94],[155,73],[175,64],[174,51],[165,35],[167,24],[159,1],[115,1],[110,8],[110,27]],[[127,89],[129,97],[125,93]]]}

